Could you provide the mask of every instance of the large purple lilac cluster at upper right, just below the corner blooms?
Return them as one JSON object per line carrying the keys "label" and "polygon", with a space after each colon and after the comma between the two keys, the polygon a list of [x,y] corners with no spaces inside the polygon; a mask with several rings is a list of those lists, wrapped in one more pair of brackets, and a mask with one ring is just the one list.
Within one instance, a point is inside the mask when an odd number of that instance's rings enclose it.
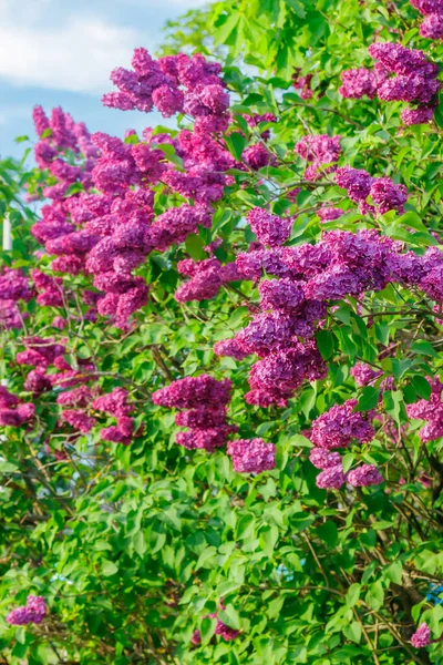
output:
{"label": "large purple lilac cluster at upper right, just below the corner blooms", "polygon": [[[421,28],[424,37],[441,39],[442,16],[436,12],[426,17]],[[375,60],[374,69],[343,71],[340,94],[348,99],[360,99],[367,95],[369,99],[378,96],[382,101],[412,102],[418,105],[404,109],[401,113],[404,124],[429,122],[433,117],[436,93],[441,88],[441,83],[436,80],[437,65],[430,62],[423,51],[405,49],[398,43],[377,42],[368,50],[371,58]]]}

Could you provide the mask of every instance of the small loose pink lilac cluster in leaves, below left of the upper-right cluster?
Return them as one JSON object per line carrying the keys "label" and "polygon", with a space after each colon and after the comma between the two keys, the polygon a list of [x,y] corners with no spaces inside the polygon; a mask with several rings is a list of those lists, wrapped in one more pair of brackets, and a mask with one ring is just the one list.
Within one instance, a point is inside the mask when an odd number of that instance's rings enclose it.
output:
{"label": "small loose pink lilac cluster in leaves, below left of the upper-right cluster", "polygon": [[341,154],[340,140],[341,136],[320,134],[318,136],[303,136],[296,143],[296,153],[310,163],[305,172],[307,180],[315,181],[326,173],[336,171]]}

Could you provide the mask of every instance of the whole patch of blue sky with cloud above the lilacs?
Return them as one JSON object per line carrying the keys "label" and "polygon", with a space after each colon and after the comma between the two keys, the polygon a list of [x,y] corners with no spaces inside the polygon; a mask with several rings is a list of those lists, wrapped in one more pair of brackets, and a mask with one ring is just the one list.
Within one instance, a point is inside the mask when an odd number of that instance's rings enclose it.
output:
{"label": "whole patch of blue sky with cloud above the lilacs", "polygon": [[205,0],[0,0],[0,155],[20,156],[34,137],[32,106],[61,105],[90,131],[123,135],[169,124],[159,114],[105,109],[114,66],[134,48],[154,52],[162,27]]}

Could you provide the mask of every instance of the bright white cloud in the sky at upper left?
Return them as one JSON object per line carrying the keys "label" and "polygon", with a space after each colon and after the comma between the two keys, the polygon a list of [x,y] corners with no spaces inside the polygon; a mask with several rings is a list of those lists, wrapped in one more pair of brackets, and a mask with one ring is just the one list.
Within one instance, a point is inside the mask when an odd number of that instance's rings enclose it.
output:
{"label": "bright white cloud in the sky at upper left", "polygon": [[[1,0],[0,18],[8,0]],[[1,17],[3,14],[3,17]],[[112,90],[111,70],[128,65],[135,47],[150,44],[146,34],[120,28],[97,17],[66,17],[56,27],[0,24],[0,76],[19,85],[87,92]],[[147,43],[146,43],[147,42]]]}

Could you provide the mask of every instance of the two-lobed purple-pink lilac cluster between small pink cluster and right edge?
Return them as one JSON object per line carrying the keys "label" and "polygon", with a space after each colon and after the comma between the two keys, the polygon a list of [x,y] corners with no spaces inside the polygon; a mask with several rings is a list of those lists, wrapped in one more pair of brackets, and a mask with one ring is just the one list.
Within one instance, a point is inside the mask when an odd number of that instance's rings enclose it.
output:
{"label": "two-lobed purple-pink lilac cluster between small pink cluster and right edge", "polygon": [[[348,191],[351,201],[359,204],[362,214],[383,215],[388,211],[401,214],[408,201],[404,185],[395,184],[390,177],[372,177],[363,170],[350,166],[338,168],[336,182],[339,187]],[[367,203],[368,196],[371,196],[374,205]]]}

